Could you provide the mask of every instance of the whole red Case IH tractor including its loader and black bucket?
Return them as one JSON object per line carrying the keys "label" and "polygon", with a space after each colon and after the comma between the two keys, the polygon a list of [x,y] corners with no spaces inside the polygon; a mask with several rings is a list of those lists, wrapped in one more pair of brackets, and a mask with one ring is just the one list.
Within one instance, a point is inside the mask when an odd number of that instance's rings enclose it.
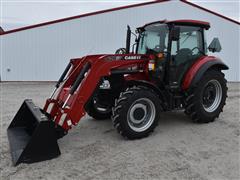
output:
{"label": "whole red Case IH tractor including its loader and black bucket", "polygon": [[[128,139],[148,136],[162,111],[185,110],[196,123],[214,121],[225,105],[228,67],[207,55],[208,22],[158,21],[128,27],[116,54],[71,59],[43,109],[25,100],[8,128],[14,165],[60,155],[57,139],[88,113],[111,118]],[[130,45],[131,35],[136,36]],[[131,50],[130,50],[131,49]],[[219,52],[214,38],[209,51]]]}

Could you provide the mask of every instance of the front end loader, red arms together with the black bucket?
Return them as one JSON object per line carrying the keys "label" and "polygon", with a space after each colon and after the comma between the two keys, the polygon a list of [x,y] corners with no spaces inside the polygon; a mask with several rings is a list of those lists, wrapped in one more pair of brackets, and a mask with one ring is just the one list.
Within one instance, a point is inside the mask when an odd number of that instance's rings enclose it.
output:
{"label": "front end loader, red arms together with the black bucket", "polygon": [[[118,58],[124,57],[118,55]],[[147,56],[113,61],[115,55],[87,56],[70,61],[43,109],[26,99],[8,127],[14,165],[52,159],[60,155],[57,139],[67,134],[86,114],[85,106],[101,82],[112,74],[143,72]],[[119,67],[139,66],[137,70]],[[117,70],[113,70],[117,69]]]}

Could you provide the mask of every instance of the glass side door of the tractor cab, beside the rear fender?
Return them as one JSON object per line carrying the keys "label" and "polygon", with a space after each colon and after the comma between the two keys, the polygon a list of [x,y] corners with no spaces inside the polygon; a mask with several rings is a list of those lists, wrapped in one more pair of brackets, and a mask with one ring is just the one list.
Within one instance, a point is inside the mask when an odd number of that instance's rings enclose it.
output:
{"label": "glass side door of the tractor cab, beside the rear fender", "polygon": [[203,28],[175,26],[180,28],[179,38],[171,42],[170,85],[181,87],[182,79],[192,64],[205,55]]}

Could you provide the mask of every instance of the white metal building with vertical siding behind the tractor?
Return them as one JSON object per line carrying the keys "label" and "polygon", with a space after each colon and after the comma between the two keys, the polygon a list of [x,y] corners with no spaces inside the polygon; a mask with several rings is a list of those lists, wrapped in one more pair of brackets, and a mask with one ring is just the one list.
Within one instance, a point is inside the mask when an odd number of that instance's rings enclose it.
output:
{"label": "white metal building with vertical siding behind the tractor", "polygon": [[211,23],[208,44],[220,39],[220,57],[229,81],[240,80],[240,23],[195,4],[154,1],[60,19],[0,35],[2,81],[55,81],[69,59],[114,53],[125,46],[126,25],[132,29],[158,20],[194,19]]}

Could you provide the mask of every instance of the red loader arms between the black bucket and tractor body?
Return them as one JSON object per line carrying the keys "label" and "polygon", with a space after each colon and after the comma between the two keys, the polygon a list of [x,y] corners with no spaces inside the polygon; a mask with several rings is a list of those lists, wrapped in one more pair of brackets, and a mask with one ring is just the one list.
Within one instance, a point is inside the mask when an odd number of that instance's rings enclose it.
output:
{"label": "red loader arms between the black bucket and tractor body", "polygon": [[[138,60],[111,60],[111,57],[114,55],[71,60],[72,67],[66,81],[57,90],[58,94],[54,96],[56,98],[47,99],[44,106],[44,111],[50,114],[55,124],[65,131],[72,125],[77,125],[86,114],[84,106],[98,87],[101,78],[111,75],[112,70],[137,65],[139,72],[146,72],[147,57]],[[51,108],[50,104],[53,104]]]}

